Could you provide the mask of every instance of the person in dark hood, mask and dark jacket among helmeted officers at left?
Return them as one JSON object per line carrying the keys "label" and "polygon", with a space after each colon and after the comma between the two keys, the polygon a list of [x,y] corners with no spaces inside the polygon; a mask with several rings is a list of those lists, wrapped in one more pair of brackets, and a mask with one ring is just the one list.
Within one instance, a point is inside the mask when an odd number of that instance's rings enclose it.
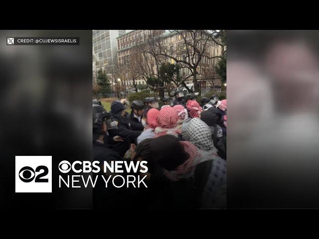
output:
{"label": "person in dark hood, mask and dark jacket among helmeted officers at left", "polygon": [[[133,130],[130,121],[125,117],[125,109],[127,107],[121,101],[113,101],[111,104],[111,113],[115,120],[118,121],[118,128],[110,130],[110,135],[119,135],[123,138],[128,138],[131,143],[136,143],[137,137],[142,133],[142,130]],[[128,150],[130,144],[128,145]]]}

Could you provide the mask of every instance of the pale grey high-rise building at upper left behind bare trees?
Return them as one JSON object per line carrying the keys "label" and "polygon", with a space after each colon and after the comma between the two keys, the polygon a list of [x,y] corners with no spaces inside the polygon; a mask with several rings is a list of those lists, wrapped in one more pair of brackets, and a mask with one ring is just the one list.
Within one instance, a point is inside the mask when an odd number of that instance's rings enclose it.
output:
{"label": "pale grey high-rise building at upper left behind bare trees", "polygon": [[112,59],[117,58],[117,37],[125,30],[93,30],[93,62],[96,70],[102,68],[110,73]]}

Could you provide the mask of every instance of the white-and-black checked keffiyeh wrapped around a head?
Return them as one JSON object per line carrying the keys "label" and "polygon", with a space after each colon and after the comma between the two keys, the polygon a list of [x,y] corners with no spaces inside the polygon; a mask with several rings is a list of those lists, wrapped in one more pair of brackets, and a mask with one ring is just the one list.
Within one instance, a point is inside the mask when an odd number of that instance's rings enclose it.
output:
{"label": "white-and-black checked keffiyeh wrapped around a head", "polygon": [[[203,150],[216,150],[209,126],[199,118],[190,120],[187,126],[189,141]],[[217,150],[216,150],[217,151]]]}

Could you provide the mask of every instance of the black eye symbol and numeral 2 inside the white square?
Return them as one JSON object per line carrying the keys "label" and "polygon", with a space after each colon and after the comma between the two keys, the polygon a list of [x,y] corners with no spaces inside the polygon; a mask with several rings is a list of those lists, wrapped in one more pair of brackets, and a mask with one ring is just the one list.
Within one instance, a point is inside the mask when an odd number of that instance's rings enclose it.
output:
{"label": "black eye symbol and numeral 2 inside the white square", "polygon": [[[43,172],[39,173],[35,177],[35,172],[40,172],[41,169],[43,170]],[[49,179],[43,178],[43,177],[47,175],[48,172],[49,172],[49,169],[45,167],[44,165],[36,167],[35,171],[31,167],[25,166],[20,169],[19,178],[21,179],[22,182],[25,182],[25,183],[32,182],[34,177],[35,177],[35,180],[34,180],[35,183],[47,183],[49,182]]]}

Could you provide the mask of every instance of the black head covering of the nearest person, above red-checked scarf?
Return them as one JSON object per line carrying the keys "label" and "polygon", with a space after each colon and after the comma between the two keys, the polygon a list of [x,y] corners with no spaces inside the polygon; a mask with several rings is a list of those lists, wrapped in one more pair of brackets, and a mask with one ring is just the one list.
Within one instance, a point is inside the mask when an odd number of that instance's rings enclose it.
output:
{"label": "black head covering of the nearest person, above red-checked scarf", "polygon": [[189,158],[183,145],[173,135],[166,134],[153,139],[151,148],[154,159],[168,171],[175,170]]}

